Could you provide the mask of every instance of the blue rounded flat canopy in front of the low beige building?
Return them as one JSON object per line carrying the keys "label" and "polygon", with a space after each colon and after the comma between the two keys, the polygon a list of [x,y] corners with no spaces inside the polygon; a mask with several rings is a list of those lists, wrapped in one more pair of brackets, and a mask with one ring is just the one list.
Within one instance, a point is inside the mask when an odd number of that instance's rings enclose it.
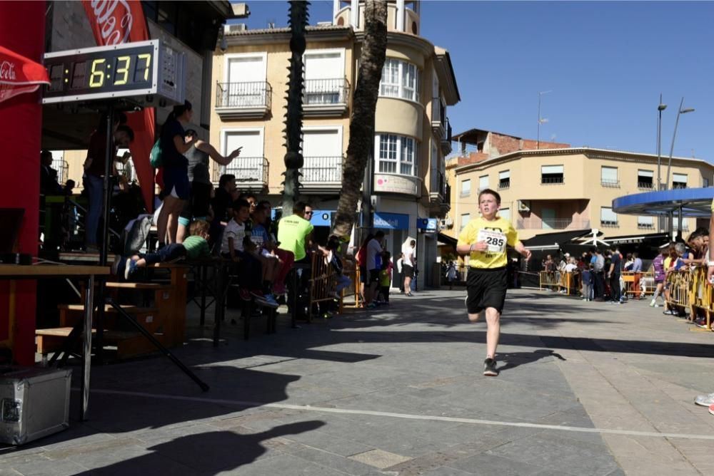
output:
{"label": "blue rounded flat canopy in front of the low beige building", "polygon": [[714,187],[659,190],[615,198],[613,212],[631,215],[668,215],[670,212],[678,214],[681,207],[683,217],[708,218],[712,214],[713,199]]}

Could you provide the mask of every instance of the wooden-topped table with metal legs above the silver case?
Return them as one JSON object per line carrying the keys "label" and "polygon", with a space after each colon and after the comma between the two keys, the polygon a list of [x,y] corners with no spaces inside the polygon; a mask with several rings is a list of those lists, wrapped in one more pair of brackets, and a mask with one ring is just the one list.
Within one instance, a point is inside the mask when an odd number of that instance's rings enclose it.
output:
{"label": "wooden-topped table with metal legs above the silver case", "polygon": [[[22,279],[49,278],[85,278],[87,291],[84,296],[84,345],[82,346],[82,403],[79,406],[79,418],[84,420],[89,405],[89,370],[91,366],[91,314],[94,308],[94,277],[109,274],[109,267],[74,266],[71,264],[0,264],[0,279],[10,279],[10,306],[14,307],[13,281]],[[11,319],[13,317],[11,316]]]}

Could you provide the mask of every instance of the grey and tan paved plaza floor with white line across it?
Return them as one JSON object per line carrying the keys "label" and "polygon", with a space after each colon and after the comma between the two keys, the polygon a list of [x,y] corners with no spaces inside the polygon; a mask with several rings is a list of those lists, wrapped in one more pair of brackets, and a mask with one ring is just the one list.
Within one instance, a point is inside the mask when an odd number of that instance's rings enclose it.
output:
{"label": "grey and tan paved plaza floor with white line across it", "polygon": [[513,290],[484,377],[465,295],[299,328],[281,314],[272,335],[255,318],[218,348],[190,304],[175,353],[211,390],[164,357],[94,366],[89,420],[75,389],[71,427],[0,446],[0,476],[714,474],[714,416],[693,404],[714,392],[713,333],[646,301]]}

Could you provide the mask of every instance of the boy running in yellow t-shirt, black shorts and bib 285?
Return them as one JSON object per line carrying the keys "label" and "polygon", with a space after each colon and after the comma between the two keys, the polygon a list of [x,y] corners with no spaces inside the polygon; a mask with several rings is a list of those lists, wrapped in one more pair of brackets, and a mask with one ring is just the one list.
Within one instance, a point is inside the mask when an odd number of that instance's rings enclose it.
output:
{"label": "boy running in yellow t-shirt, black shorts and bib 285", "polygon": [[496,346],[501,333],[501,311],[506,301],[508,289],[508,264],[506,244],[531,258],[531,251],[518,240],[518,233],[507,219],[498,217],[501,195],[491,189],[478,194],[478,210],[481,217],[472,219],[456,244],[458,254],[469,256],[468,294],[466,309],[471,322],[478,321],[481,311],[486,309],[486,361],[483,361],[483,375],[497,376]]}

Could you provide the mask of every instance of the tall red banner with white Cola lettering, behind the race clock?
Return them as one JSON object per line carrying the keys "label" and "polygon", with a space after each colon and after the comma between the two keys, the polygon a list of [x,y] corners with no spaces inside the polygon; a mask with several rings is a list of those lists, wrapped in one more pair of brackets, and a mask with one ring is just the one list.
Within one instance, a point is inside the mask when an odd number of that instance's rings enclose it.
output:
{"label": "tall red banner with white Cola lettering, behind the race clock", "polygon": [[[137,0],[83,0],[96,43],[101,46],[149,40],[141,1]],[[139,177],[141,195],[149,212],[154,209],[154,168],[149,162],[149,152],[154,145],[156,119],[154,108],[144,108],[129,113],[127,125],[134,129],[134,142],[129,146]]]}

